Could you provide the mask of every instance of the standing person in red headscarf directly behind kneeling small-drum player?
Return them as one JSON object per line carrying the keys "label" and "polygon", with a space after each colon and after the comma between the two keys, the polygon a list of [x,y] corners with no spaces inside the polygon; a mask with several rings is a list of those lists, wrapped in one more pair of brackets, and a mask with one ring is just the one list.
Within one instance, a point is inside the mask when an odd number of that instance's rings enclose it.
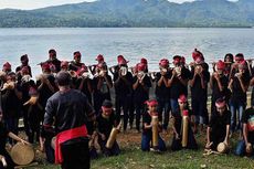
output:
{"label": "standing person in red headscarf directly behind kneeling small-drum player", "polygon": [[211,104],[211,113],[213,114],[215,110],[215,102],[218,98],[225,97],[226,103],[229,103],[229,93],[227,89],[229,80],[224,74],[225,63],[221,60],[216,63],[216,70],[212,74],[210,80],[210,87],[212,89],[212,104]]}

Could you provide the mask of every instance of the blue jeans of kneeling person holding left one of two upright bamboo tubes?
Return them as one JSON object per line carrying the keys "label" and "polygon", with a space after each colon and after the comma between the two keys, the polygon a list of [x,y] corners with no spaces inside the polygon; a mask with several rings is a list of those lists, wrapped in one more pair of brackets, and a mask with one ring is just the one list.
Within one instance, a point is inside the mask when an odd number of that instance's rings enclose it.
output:
{"label": "blue jeans of kneeling person holding left one of two upright bamboo tubes", "polygon": [[[142,134],[142,138],[141,138],[141,150],[142,151],[149,151],[150,150],[150,142],[151,142],[151,135],[148,134]],[[162,140],[162,138],[159,136],[159,146],[158,149],[160,151],[166,151],[166,145],[165,141]]]}

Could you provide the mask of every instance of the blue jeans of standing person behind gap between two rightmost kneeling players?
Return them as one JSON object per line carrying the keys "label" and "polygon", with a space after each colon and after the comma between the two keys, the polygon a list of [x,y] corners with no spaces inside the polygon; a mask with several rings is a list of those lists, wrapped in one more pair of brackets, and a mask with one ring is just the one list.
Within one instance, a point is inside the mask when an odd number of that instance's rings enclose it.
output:
{"label": "blue jeans of standing person behind gap between two rightmost kneeling players", "polygon": [[[242,129],[242,116],[245,109],[245,105],[241,102],[230,102],[230,112],[231,112],[231,130],[235,131]],[[237,116],[237,122],[236,122]],[[236,126],[237,124],[237,126]]]}

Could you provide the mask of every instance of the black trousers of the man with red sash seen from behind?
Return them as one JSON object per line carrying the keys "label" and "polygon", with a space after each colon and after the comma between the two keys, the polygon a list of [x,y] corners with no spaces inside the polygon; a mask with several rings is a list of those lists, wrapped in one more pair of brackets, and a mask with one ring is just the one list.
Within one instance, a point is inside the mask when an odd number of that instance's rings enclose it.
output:
{"label": "black trousers of the man with red sash seen from behind", "polygon": [[63,144],[61,150],[63,156],[62,169],[89,169],[88,139]]}

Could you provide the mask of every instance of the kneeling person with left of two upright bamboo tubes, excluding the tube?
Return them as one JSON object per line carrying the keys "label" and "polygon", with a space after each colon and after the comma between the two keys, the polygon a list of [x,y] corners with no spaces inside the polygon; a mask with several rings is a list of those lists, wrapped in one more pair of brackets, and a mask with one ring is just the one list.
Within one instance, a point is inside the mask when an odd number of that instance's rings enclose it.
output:
{"label": "kneeling person with left of two upright bamboo tubes, excluding the tube", "polygon": [[[141,137],[141,150],[149,151],[150,147],[154,147],[158,151],[166,151],[165,141],[158,136],[158,146],[152,144],[152,116],[158,117],[156,99],[147,101],[148,112],[142,115],[142,137]],[[161,123],[158,124],[158,131],[161,131]],[[159,134],[158,134],[159,135]]]}

